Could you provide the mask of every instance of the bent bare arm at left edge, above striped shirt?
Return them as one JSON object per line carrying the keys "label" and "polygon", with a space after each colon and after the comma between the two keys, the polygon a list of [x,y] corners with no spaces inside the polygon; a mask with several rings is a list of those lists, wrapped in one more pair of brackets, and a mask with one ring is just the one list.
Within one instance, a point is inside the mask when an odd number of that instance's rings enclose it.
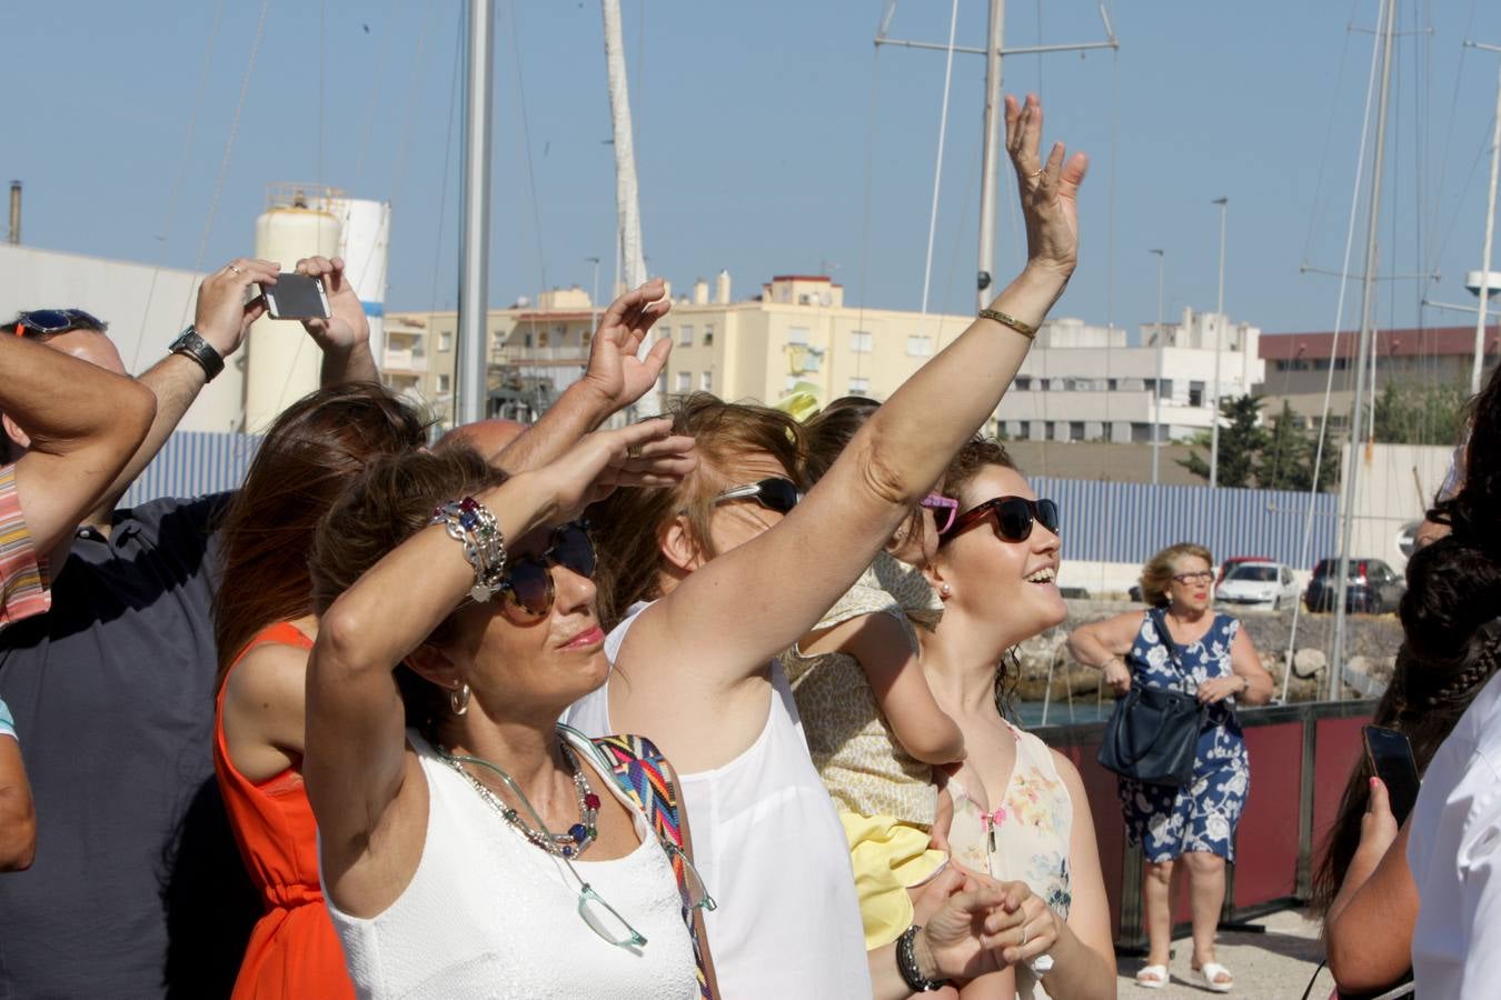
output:
{"label": "bent bare arm at left edge, above striped shirt", "polygon": [[0,336],[0,412],[30,438],[17,495],[38,553],[72,537],[128,465],[156,412],[152,393],[17,336]]}

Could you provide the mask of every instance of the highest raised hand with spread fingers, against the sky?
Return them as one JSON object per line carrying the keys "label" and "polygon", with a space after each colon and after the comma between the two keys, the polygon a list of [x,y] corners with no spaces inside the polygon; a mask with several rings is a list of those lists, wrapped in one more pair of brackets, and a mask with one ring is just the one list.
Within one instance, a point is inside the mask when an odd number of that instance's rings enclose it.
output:
{"label": "highest raised hand with spread fingers, against the sky", "polygon": [[1090,159],[1075,153],[1064,160],[1063,142],[1054,142],[1048,160],[1040,156],[1042,102],[1006,97],[1006,150],[1016,168],[1022,216],[1027,220],[1027,264],[1067,279],[1079,262],[1079,184]]}

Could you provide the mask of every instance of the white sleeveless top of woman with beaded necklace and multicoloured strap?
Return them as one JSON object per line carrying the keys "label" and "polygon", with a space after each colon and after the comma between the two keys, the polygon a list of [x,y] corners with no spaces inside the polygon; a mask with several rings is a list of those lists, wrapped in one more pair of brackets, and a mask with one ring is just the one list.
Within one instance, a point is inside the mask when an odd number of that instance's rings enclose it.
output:
{"label": "white sleeveless top of woman with beaded necklace and multicoloured strap", "polygon": [[[428,780],[417,871],[401,897],[369,919],[342,913],[329,898],[360,997],[696,1000],[698,967],[672,868],[609,775],[591,768],[590,784],[630,808],[641,846],[617,861],[573,867],[647,939],[639,949],[617,948],[591,931],[567,868],[501,820],[422,736],[408,730],[407,739]],[[587,753],[581,747],[579,760]]]}

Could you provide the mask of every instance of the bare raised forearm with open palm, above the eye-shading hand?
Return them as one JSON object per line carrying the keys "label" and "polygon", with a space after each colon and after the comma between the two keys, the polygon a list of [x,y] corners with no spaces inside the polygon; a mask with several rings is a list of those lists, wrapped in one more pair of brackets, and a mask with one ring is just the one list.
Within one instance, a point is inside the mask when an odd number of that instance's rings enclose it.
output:
{"label": "bare raised forearm with open palm, above the eye-shading hand", "polygon": [[636,351],[656,321],[672,307],[672,300],[665,295],[666,285],[653,277],[609,303],[588,345],[584,378],[563,390],[558,402],[492,462],[512,472],[546,465],[612,414],[651,391],[672,342],[657,340],[645,360],[638,358]]}

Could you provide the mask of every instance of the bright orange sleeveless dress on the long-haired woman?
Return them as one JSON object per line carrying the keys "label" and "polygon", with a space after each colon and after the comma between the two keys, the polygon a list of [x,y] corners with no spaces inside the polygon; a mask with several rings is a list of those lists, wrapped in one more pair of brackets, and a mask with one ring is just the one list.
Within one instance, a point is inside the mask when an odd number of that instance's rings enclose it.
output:
{"label": "bright orange sleeveless dress on the long-haired woman", "polygon": [[[312,649],[296,627],[261,630],[240,651],[233,672],[255,646],[282,643]],[[318,885],[318,832],[302,775],[288,768],[267,781],[251,781],[230,763],[224,741],[224,688],[213,721],[213,771],[234,828],[240,856],[261,892],[266,915],[255,924],[234,981],[234,1000],[282,997],[354,997],[344,949]]]}

